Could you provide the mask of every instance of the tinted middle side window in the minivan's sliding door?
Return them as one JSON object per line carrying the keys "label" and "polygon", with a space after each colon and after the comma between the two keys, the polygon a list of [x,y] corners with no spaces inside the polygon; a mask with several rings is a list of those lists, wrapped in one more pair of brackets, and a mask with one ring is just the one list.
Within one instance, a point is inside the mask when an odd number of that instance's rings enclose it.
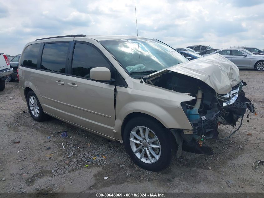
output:
{"label": "tinted middle side window in the minivan's sliding door", "polygon": [[69,43],[48,43],[44,45],[41,69],[65,73]]}

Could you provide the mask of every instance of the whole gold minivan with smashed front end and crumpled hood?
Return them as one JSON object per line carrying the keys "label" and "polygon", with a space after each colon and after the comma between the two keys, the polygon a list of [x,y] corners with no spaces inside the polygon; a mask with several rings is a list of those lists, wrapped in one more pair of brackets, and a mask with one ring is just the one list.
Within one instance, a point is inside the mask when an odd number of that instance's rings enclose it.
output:
{"label": "whole gold minivan with smashed front end and crumpled hood", "polygon": [[50,115],[124,142],[140,167],[158,171],[203,144],[219,124],[241,123],[254,105],[237,66],[220,54],[189,61],[170,46],[135,36],[68,35],[27,43],[20,93],[37,121]]}

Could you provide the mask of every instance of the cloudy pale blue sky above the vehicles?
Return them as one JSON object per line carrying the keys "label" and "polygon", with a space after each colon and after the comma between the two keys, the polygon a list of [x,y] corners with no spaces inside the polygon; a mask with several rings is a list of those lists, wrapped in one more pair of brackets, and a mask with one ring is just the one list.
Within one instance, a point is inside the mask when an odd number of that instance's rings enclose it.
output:
{"label": "cloudy pale blue sky above the vehicles", "polygon": [[263,0],[35,0],[0,2],[0,52],[16,55],[37,38],[138,35],[178,48],[264,49]]}

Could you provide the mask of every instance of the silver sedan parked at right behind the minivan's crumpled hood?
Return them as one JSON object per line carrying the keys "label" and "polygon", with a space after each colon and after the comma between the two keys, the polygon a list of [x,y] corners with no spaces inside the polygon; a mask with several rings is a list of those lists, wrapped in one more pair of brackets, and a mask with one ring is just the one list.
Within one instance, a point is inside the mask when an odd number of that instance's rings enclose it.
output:
{"label": "silver sedan parked at right behind the minivan's crumpled hood", "polygon": [[209,55],[214,53],[220,53],[223,57],[235,63],[239,69],[264,71],[264,55],[254,55],[250,51],[241,48],[220,49]]}

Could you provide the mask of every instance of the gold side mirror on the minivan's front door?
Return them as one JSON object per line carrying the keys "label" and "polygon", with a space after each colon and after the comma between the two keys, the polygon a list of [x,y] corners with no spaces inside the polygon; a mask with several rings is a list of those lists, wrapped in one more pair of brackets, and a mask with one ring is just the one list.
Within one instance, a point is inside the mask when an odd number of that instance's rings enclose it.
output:
{"label": "gold side mirror on the minivan's front door", "polygon": [[106,67],[95,67],[90,70],[90,79],[104,82],[114,82],[111,79],[111,72]]}

